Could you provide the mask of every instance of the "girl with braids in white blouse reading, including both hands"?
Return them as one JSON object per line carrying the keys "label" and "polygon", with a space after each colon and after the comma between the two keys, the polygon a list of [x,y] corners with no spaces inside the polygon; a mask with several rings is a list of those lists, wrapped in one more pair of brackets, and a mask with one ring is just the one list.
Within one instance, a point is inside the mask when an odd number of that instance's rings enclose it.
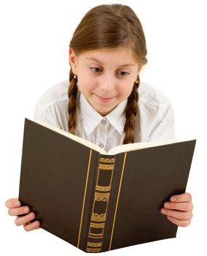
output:
{"label": "girl with braids in white blouse reading, including both hands", "polygon": [[[69,45],[69,81],[49,89],[37,102],[35,119],[76,134],[106,151],[122,143],[173,140],[170,102],[140,83],[147,64],[144,31],[136,14],[121,4],[94,7],[82,18]],[[16,225],[35,230],[39,222],[17,199],[6,202]],[[55,206],[54,206],[55,207]],[[189,193],[174,195],[160,214],[185,227],[192,218]],[[21,216],[26,214],[24,216]]]}

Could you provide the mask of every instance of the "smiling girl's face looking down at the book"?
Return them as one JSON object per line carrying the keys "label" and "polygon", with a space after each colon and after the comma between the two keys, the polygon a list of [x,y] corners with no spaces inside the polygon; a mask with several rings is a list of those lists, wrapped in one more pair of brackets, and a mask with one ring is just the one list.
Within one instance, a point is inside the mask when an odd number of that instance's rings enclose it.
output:
{"label": "smiling girl's face looking down at the book", "polygon": [[69,60],[79,90],[101,116],[128,98],[141,71],[128,48],[90,50],[79,56],[70,48]]}

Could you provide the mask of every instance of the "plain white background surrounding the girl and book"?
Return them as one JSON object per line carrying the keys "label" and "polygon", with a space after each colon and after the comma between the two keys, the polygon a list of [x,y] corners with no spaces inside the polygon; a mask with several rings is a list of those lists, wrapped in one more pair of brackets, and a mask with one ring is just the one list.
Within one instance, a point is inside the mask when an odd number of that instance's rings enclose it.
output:
{"label": "plain white background surrounding the girl and book", "polygon": [[[34,107],[44,91],[68,78],[69,41],[85,12],[95,5],[112,3],[117,1],[1,1],[1,255],[84,254],[42,229],[27,233],[23,227],[16,227],[15,217],[9,217],[4,202],[18,195],[24,118],[33,119]],[[171,100],[176,138],[197,139],[187,185],[195,208],[192,224],[179,227],[177,238],[106,253],[187,255],[197,253],[198,249],[205,251],[205,0],[120,0],[118,3],[132,7],[144,28],[149,62],[141,72],[141,80]]]}

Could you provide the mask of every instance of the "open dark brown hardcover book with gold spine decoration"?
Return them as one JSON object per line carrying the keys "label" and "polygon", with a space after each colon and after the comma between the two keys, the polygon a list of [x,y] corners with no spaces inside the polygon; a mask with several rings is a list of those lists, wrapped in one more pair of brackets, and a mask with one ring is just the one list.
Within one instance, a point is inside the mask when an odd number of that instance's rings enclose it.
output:
{"label": "open dark brown hardcover book with gold spine decoration", "polygon": [[84,252],[174,238],[160,213],[185,192],[196,140],[103,148],[25,118],[19,200],[40,227]]}

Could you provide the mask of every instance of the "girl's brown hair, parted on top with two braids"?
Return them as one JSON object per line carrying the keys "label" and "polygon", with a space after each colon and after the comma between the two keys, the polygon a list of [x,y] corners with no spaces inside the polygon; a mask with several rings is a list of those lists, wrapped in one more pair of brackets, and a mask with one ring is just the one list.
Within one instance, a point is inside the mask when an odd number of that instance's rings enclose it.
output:
{"label": "girl's brown hair, parted on top with two braids", "polygon": [[[147,63],[147,45],[141,23],[135,12],[122,4],[102,4],[88,11],[74,31],[69,47],[77,56],[87,50],[126,47],[132,50],[139,65]],[[72,70],[69,80],[68,127],[69,132],[75,134],[78,89],[77,78],[74,77]],[[139,83],[138,76],[125,108],[123,144],[134,142]]]}

